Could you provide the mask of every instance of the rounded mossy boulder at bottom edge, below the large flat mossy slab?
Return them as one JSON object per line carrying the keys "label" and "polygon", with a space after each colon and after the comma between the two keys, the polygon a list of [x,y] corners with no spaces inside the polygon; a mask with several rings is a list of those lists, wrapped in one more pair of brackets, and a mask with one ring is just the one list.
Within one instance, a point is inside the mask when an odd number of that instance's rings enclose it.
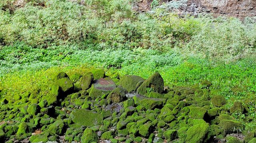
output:
{"label": "rounded mossy boulder at bottom edge, below the large flat mossy slab", "polygon": [[84,130],[83,136],[81,138],[81,143],[92,143],[98,142],[97,134],[90,128],[86,128]]}

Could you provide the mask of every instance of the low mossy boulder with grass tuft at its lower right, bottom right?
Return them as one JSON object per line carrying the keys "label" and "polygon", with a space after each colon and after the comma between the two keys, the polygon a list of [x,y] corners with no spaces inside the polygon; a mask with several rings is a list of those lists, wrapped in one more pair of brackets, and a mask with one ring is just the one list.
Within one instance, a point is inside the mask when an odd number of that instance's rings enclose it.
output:
{"label": "low mossy boulder with grass tuft at its lower right, bottom right", "polygon": [[226,134],[229,133],[239,133],[244,130],[244,125],[239,121],[232,121],[228,119],[220,120],[219,126],[222,127]]}

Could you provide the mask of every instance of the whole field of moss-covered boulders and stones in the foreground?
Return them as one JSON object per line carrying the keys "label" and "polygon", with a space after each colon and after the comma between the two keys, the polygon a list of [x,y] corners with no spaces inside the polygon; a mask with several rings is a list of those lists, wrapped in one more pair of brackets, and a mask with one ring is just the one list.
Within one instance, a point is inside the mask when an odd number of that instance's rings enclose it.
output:
{"label": "whole field of moss-covered boulders and stones in the foreground", "polygon": [[[226,106],[224,96],[205,80],[168,87],[159,73],[148,79],[105,76],[101,69],[58,72],[43,97],[2,99],[0,141],[6,143],[256,143],[256,131],[242,140],[241,102]],[[24,103],[24,104],[22,104]]]}

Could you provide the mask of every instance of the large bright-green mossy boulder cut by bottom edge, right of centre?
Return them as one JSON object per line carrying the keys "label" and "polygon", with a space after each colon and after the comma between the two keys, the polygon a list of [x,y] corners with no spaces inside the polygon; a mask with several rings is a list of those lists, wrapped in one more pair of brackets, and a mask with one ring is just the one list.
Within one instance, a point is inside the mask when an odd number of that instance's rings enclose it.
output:
{"label": "large bright-green mossy boulder cut by bottom edge, right of centre", "polygon": [[207,143],[212,138],[210,126],[208,123],[193,125],[187,131],[186,143]]}

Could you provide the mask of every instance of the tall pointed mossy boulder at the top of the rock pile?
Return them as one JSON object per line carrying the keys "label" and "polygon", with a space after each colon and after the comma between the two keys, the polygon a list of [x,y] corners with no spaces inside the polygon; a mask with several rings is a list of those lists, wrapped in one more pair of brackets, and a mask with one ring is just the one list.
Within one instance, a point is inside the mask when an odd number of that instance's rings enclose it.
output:
{"label": "tall pointed mossy boulder at the top of the rock pile", "polygon": [[137,92],[140,95],[148,94],[148,91],[152,90],[154,92],[162,93],[164,91],[164,80],[162,76],[156,72],[145,80],[141,86],[138,88]]}

